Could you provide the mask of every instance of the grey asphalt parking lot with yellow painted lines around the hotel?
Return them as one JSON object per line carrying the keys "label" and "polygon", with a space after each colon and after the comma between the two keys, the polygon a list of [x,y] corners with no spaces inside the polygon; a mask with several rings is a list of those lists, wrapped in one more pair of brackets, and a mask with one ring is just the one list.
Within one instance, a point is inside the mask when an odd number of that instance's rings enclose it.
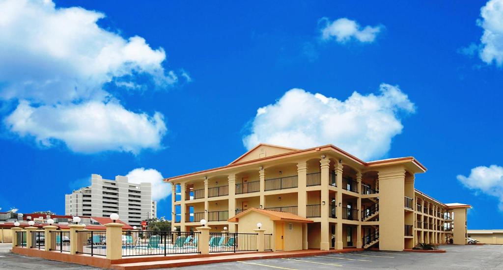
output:
{"label": "grey asphalt parking lot with yellow painted lines around the hotel", "polygon": [[[278,258],[262,260],[246,260],[189,266],[190,269],[208,269],[218,267],[219,270],[244,269],[284,269],[304,270],[306,268],[333,269],[344,267],[348,269],[503,269],[503,246],[455,246],[444,245],[447,253],[416,253],[393,251],[363,251],[343,254],[329,254],[301,258]],[[0,269],[97,269],[72,263],[49,261],[13,254],[9,252],[10,245],[0,245]],[[176,269],[189,269],[182,267]],[[173,269],[173,268],[171,268]]]}

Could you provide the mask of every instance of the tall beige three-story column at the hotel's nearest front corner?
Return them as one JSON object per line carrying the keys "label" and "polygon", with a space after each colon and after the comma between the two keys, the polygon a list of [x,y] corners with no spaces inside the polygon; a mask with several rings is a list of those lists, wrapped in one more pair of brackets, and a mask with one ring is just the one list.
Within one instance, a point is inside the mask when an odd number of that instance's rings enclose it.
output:
{"label": "tall beige three-story column at the hotel's nearest front corner", "polygon": [[330,170],[330,160],[322,157],[319,161],[321,167],[321,250],[330,249],[329,226],[328,226],[328,178]]}

